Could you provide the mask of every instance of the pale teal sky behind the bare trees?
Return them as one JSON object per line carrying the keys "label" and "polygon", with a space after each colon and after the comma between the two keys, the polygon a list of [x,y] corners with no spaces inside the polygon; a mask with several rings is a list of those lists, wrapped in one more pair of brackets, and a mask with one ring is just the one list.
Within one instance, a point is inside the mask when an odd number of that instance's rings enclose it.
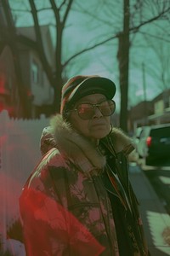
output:
{"label": "pale teal sky behind the bare trees", "polygon": [[[57,3],[62,2],[58,1]],[[131,25],[138,25],[139,19],[145,20],[156,15],[156,6],[150,0],[149,7],[144,6],[142,13],[135,9],[135,3],[131,2],[133,19]],[[168,2],[168,1],[167,1]],[[29,9],[26,0],[10,0],[14,9]],[[48,7],[48,1],[35,1],[38,9]],[[135,10],[135,11],[134,11]],[[31,14],[15,12],[17,26],[32,26]],[[55,38],[54,15],[51,11],[42,11],[39,15],[42,25],[50,25],[52,38]],[[133,106],[144,100],[144,81],[146,99],[151,100],[164,88],[170,88],[170,49],[169,21],[160,20],[143,26],[138,33],[131,35],[130,65],[129,65],[129,93],[128,105]],[[111,38],[117,32],[122,31],[122,1],[86,0],[74,1],[72,10],[68,16],[63,35],[63,61],[81,49]],[[54,42],[55,44],[55,42]],[[79,55],[66,67],[67,77],[77,74],[99,74],[113,79],[117,84],[116,103],[119,106],[119,73],[116,59],[118,42],[113,39],[105,45],[99,46],[85,54]],[[144,65],[144,70],[142,69]],[[144,71],[144,72],[143,72]],[[161,77],[165,77],[165,84]],[[119,107],[118,107],[119,108]]]}

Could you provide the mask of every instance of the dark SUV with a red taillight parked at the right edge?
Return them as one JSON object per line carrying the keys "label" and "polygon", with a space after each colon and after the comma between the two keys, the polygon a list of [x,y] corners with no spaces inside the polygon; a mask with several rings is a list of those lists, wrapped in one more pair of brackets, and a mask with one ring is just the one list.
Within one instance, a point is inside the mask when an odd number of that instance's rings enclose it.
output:
{"label": "dark SUV with a red taillight parked at the right edge", "polygon": [[136,148],[146,165],[154,166],[157,160],[170,159],[170,124],[144,126]]}

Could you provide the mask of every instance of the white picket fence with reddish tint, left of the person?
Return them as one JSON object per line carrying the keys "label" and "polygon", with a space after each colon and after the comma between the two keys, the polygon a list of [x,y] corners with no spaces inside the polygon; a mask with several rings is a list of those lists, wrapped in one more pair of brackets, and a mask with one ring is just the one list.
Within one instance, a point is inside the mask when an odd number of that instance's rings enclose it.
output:
{"label": "white picket fence with reddish tint, left of the person", "polygon": [[[0,253],[25,255],[20,243],[19,197],[40,160],[40,137],[48,119],[9,119],[0,113]],[[2,255],[2,254],[1,254]]]}

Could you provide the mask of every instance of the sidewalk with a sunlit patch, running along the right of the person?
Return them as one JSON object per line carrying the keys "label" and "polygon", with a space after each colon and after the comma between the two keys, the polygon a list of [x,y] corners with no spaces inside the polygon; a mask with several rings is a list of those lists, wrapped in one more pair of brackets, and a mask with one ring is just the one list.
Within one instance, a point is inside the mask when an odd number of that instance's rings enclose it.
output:
{"label": "sidewalk with a sunlit patch, running along the right of the person", "polygon": [[129,177],[139,200],[139,211],[151,256],[170,255],[170,216],[144,172],[135,163],[130,164]]}

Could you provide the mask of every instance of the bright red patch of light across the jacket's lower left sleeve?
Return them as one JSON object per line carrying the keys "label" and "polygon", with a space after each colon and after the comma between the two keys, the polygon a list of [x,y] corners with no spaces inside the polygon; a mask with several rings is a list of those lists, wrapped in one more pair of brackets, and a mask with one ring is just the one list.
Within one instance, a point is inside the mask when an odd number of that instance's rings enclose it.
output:
{"label": "bright red patch of light across the jacket's lower left sleeve", "polygon": [[99,255],[105,249],[54,196],[40,190],[23,190],[20,215],[27,256]]}

